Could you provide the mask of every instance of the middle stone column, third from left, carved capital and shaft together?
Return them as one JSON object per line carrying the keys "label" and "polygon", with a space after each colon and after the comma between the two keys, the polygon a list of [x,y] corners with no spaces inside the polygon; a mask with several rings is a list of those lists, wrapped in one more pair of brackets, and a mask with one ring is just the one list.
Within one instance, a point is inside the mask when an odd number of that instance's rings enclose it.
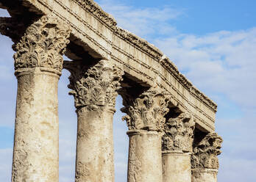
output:
{"label": "middle stone column, third from left, carved capital and shaft together", "polygon": [[162,181],[161,137],[168,95],[155,88],[135,99],[123,98],[129,128],[128,182]]}

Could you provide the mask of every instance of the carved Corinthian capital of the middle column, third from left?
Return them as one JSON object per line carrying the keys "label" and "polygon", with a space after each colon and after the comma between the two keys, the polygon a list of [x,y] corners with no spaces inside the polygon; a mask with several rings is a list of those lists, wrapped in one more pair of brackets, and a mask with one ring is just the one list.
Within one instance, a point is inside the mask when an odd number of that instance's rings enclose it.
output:
{"label": "carved Corinthian capital of the middle column, third from left", "polygon": [[138,98],[124,98],[122,112],[127,113],[123,120],[127,120],[129,130],[145,129],[162,131],[165,115],[168,112],[169,95],[160,89],[150,89],[143,92]]}

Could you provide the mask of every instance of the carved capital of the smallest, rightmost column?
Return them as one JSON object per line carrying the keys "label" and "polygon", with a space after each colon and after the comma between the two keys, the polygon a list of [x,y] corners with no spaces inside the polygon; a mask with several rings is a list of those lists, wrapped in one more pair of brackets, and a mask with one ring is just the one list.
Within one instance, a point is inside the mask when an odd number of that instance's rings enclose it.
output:
{"label": "carved capital of the smallest, rightmost column", "polygon": [[221,136],[210,133],[193,147],[191,159],[192,168],[209,168],[218,170],[218,158],[221,154]]}

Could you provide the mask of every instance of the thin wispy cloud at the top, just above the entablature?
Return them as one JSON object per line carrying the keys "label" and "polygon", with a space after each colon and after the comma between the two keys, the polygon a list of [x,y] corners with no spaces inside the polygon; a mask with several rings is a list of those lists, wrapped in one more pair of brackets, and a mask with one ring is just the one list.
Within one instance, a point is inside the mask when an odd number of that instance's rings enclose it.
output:
{"label": "thin wispy cloud at the top, just above the entablature", "polygon": [[113,0],[101,0],[99,4],[115,17],[118,26],[141,37],[149,37],[156,32],[158,34],[177,32],[176,27],[170,26],[168,21],[176,20],[183,14],[183,10],[173,7],[134,8]]}

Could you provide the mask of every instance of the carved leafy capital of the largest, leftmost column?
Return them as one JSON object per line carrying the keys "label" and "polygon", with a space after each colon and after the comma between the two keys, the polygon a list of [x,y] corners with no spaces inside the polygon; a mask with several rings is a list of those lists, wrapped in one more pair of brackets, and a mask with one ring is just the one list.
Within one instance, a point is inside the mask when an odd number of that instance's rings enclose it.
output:
{"label": "carved leafy capital of the largest, leftmost column", "polygon": [[14,46],[15,70],[39,67],[61,72],[69,34],[68,26],[51,16],[32,23]]}

